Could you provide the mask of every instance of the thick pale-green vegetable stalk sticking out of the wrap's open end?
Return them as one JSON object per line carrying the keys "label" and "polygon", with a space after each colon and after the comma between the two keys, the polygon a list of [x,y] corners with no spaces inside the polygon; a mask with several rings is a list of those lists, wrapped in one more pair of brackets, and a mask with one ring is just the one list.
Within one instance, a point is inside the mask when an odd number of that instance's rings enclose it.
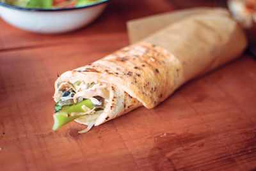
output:
{"label": "thick pale-green vegetable stalk sticking out of the wrap's open end", "polygon": [[90,109],[93,109],[92,101],[89,99],[86,99],[86,100],[83,100],[83,101],[77,103],[76,105],[72,105],[70,107],[65,107],[60,112],[57,112],[56,114],[54,114],[53,115],[54,124],[53,124],[52,130],[57,130],[64,124],[70,123],[71,121],[80,117],[81,115],[70,115],[70,114],[72,114],[73,112],[75,112],[75,113],[76,112],[77,113],[86,112],[82,108],[83,105],[85,105],[86,107],[88,107]]}

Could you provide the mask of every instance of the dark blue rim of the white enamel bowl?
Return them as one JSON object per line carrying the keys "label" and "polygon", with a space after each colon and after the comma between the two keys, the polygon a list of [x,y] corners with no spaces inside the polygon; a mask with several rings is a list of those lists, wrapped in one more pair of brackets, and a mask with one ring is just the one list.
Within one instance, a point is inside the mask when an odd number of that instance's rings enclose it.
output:
{"label": "dark blue rim of the white enamel bowl", "polygon": [[79,10],[83,8],[88,8],[92,6],[97,6],[99,4],[107,3],[109,0],[102,0],[99,3],[93,3],[93,4],[88,4],[86,6],[79,6],[79,7],[73,7],[73,8],[56,8],[56,9],[40,9],[40,8],[26,8],[26,7],[21,7],[21,6],[13,6],[10,4],[5,4],[0,2],[0,6],[4,6],[6,8],[11,8],[14,10],[24,10],[24,11],[69,11],[69,10]]}

